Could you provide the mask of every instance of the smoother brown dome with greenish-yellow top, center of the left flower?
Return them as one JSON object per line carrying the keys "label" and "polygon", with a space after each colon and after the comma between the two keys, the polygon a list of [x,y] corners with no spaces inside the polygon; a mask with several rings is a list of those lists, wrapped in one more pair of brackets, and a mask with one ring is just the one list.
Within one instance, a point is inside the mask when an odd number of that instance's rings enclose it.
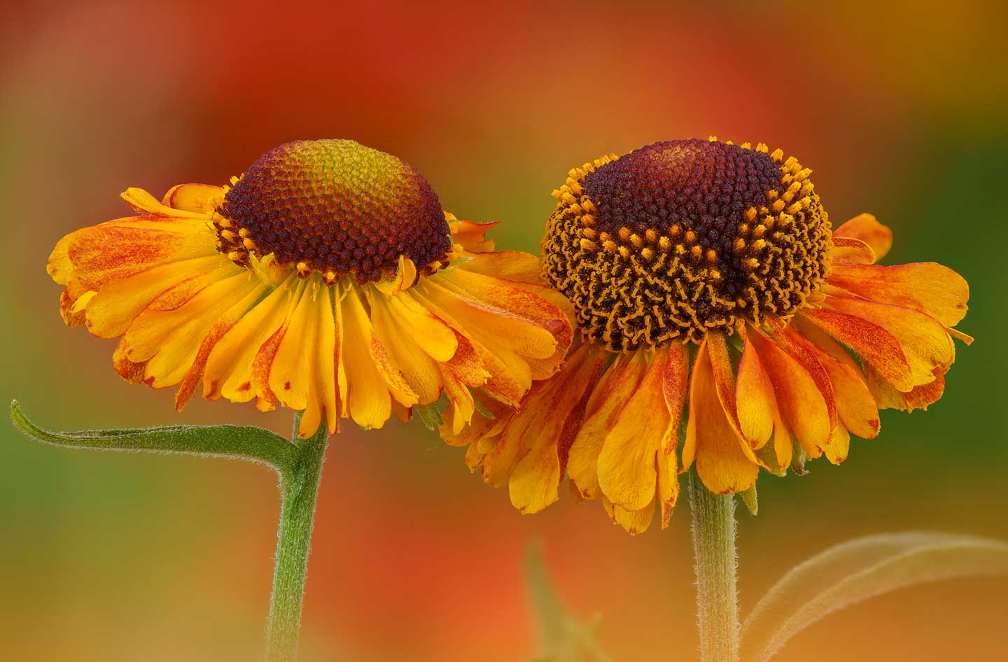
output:
{"label": "smoother brown dome with greenish-yellow top, center of the left flower", "polygon": [[404,161],[353,140],[298,140],[259,157],[215,215],[221,251],[239,264],[273,254],[301,275],[364,283],[445,259],[451,232],[437,195]]}

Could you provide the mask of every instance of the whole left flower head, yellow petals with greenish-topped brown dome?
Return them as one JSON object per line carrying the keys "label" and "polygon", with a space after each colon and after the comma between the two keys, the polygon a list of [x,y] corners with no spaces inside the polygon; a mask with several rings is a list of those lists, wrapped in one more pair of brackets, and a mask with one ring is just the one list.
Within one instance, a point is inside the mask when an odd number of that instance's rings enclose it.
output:
{"label": "whole left flower head, yellow petals with greenish-topped brown dome", "polygon": [[[517,404],[558,368],[572,329],[534,256],[494,253],[413,167],[350,140],[291,142],[230,186],[179,184],[136,216],[74,232],[48,261],[71,326],[122,337],[116,370],[204,397],[381,427],[471,389]],[[551,302],[552,301],[552,302]],[[559,304],[559,305],[557,305]]]}

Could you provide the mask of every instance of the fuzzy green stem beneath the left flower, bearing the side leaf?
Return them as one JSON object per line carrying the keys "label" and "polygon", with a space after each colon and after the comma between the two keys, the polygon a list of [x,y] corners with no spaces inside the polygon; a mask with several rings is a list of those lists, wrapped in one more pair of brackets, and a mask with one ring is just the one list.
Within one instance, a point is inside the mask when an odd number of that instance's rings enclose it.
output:
{"label": "fuzzy green stem beneath the left flower, bearing the side leaf", "polygon": [[280,525],[276,535],[276,565],[273,595],[269,604],[266,633],[267,662],[294,662],[301,628],[304,581],[308,573],[308,551],[314,525],[316,504],[322,485],[329,430],[326,422],[307,440],[297,440],[301,415],[294,414],[297,456],[292,467],[280,472]]}

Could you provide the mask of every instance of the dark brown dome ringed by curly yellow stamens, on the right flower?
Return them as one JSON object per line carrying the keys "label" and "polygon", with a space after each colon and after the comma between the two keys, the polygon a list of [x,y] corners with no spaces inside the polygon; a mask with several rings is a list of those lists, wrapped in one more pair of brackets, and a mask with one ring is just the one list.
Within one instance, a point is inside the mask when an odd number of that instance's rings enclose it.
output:
{"label": "dark brown dome ringed by curly yellow stamens, on the right flower", "polygon": [[699,139],[586,163],[553,191],[543,274],[614,351],[786,319],[829,268],[809,172],[763,144]]}

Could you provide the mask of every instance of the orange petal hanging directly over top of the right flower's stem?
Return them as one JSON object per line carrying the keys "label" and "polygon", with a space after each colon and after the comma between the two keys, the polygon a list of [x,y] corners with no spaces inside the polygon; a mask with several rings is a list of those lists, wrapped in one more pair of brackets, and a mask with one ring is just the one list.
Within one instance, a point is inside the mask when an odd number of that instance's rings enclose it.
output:
{"label": "orange petal hanging directly over top of the right flower's stem", "polygon": [[696,455],[697,474],[711,492],[728,494],[748,490],[756,482],[759,467],[743,451],[743,443],[718,398],[711,357],[704,342],[689,381],[683,470]]}

